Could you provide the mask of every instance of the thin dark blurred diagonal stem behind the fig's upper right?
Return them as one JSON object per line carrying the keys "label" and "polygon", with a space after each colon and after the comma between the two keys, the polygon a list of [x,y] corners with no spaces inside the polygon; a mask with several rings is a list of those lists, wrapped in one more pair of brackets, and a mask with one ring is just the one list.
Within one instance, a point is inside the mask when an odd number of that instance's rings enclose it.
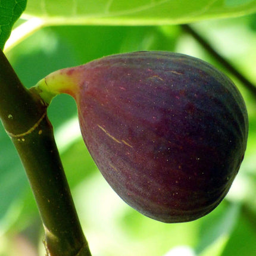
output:
{"label": "thin dark blurred diagonal stem behind the fig's upper right", "polygon": [[218,52],[210,45],[207,40],[202,38],[199,33],[197,33],[191,26],[188,24],[180,25],[182,29],[189,33],[200,45],[204,47],[204,49],[213,56],[227,71],[229,71],[233,76],[236,77],[255,97],[256,97],[256,86],[253,85],[245,76],[233,65],[231,64],[226,58],[222,57]]}

